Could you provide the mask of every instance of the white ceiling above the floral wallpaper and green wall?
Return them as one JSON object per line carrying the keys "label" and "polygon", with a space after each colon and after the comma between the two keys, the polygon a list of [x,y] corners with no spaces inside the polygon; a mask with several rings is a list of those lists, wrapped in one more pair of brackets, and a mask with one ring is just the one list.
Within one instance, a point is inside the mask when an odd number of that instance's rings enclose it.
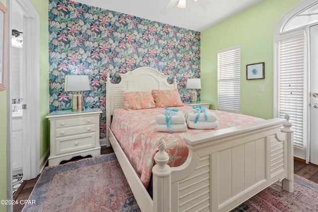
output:
{"label": "white ceiling above the floral wallpaper and green wall", "polygon": [[[203,30],[261,2],[262,0],[187,0],[186,9],[176,3],[167,14],[161,11],[170,0],[74,0],[92,6],[202,32]],[[208,6],[200,6],[205,3]],[[210,6],[209,6],[210,5]]]}

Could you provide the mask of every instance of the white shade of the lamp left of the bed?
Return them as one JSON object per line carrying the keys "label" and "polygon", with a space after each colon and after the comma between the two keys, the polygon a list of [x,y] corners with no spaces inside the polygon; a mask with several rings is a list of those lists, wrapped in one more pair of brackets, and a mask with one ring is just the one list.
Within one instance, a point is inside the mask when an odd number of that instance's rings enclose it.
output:
{"label": "white shade of the lamp left of the bed", "polygon": [[90,90],[87,75],[66,75],[65,91],[83,91]]}

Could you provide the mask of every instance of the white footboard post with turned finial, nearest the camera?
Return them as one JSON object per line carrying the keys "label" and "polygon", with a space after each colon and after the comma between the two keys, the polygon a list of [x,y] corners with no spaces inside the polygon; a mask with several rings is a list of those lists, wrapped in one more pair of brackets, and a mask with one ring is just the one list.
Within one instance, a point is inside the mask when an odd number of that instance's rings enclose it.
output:
{"label": "white footboard post with turned finial, nearest the camera", "polygon": [[169,155],[164,151],[165,141],[158,142],[159,151],[155,155],[156,165],[153,167],[153,212],[170,211],[170,166],[167,165]]}

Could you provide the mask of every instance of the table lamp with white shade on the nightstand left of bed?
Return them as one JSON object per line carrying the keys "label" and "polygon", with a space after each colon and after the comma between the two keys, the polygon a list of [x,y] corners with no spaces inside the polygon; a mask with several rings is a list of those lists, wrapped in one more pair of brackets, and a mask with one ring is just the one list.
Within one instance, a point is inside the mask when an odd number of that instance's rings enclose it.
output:
{"label": "table lamp with white shade on the nightstand left of bed", "polygon": [[66,75],[64,91],[74,91],[72,97],[72,111],[82,111],[83,96],[80,91],[90,90],[89,80],[87,75]]}

